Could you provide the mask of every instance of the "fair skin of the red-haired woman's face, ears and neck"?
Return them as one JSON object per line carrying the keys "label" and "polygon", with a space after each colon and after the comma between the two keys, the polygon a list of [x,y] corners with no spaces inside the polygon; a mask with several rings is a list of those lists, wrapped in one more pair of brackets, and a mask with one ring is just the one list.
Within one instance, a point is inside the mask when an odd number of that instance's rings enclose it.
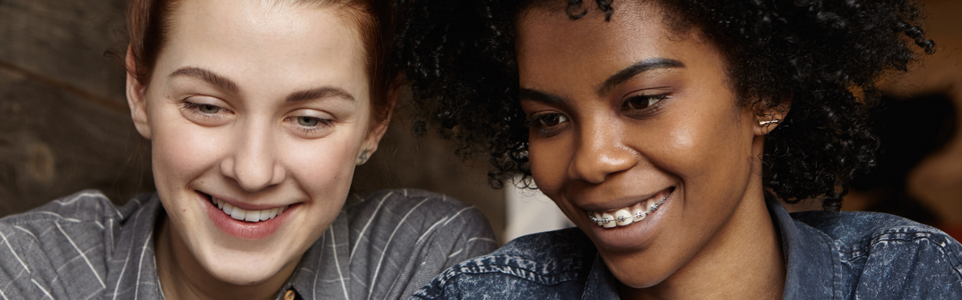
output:
{"label": "fair skin of the red-haired woman's face, ears and neck", "polygon": [[[270,298],[340,213],[358,157],[376,150],[388,122],[371,120],[366,56],[348,16],[186,1],[149,85],[128,75],[166,211],[155,242],[167,299]],[[206,195],[293,206],[266,238],[239,238],[215,226]]]}

